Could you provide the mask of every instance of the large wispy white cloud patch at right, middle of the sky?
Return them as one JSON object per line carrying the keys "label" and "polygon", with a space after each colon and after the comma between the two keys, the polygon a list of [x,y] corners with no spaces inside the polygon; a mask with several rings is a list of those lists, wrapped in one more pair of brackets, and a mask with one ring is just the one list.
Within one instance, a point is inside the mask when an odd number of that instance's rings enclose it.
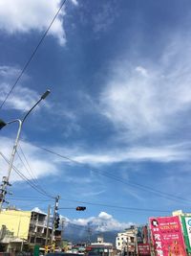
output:
{"label": "large wispy white cloud patch at right, middle of the sky", "polygon": [[169,42],[158,61],[145,66],[114,62],[100,94],[100,113],[118,133],[132,139],[166,134],[181,126],[181,113],[190,111],[190,37],[174,36],[172,41],[176,43]]}

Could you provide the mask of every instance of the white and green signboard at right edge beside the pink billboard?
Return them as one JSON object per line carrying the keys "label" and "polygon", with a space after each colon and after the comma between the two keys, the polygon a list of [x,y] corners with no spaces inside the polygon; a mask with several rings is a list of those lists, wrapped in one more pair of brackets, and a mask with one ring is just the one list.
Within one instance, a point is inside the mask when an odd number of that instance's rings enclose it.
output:
{"label": "white and green signboard at right edge beside the pink billboard", "polygon": [[183,235],[188,252],[191,252],[191,216],[181,216]]}

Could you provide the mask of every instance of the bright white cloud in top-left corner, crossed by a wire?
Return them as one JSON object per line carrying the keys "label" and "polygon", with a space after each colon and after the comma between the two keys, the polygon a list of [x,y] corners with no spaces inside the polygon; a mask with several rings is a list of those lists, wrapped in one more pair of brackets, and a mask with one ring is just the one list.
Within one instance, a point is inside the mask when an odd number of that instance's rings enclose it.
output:
{"label": "bright white cloud in top-left corner, crossed by a wire", "polygon": [[[0,1],[0,30],[12,35],[14,33],[44,32],[53,16],[58,11],[60,0],[1,0]],[[76,6],[77,1],[72,3]],[[56,37],[60,45],[66,43],[63,28],[64,7],[53,22],[49,34]]]}

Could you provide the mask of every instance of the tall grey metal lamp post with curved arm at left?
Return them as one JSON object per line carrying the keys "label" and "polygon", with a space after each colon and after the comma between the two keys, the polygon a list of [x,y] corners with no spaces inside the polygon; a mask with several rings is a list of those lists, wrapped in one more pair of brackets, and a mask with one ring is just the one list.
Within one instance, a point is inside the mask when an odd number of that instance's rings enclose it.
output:
{"label": "tall grey metal lamp post with curved arm at left", "polygon": [[18,122],[18,124],[19,124],[16,139],[15,139],[12,151],[11,151],[11,160],[10,160],[10,163],[9,163],[8,175],[3,178],[3,183],[2,183],[1,188],[0,188],[0,191],[1,191],[0,192],[0,212],[2,211],[2,206],[3,206],[3,203],[5,201],[5,196],[7,194],[7,186],[10,185],[10,175],[11,175],[12,164],[13,164],[15,152],[16,152],[16,149],[17,149],[17,146],[18,146],[18,141],[19,141],[21,129],[23,127],[23,123],[25,122],[25,120],[29,116],[29,114],[32,112],[33,108],[36,105],[38,105],[42,100],[45,100],[45,98],[50,94],[50,92],[51,92],[50,90],[47,90],[40,97],[40,99],[32,106],[32,108],[25,114],[23,119],[15,119],[15,120],[12,120],[8,123],[6,123],[6,122],[4,122],[3,120],[0,119],[0,129],[4,128],[5,126],[10,125],[11,123],[14,123],[14,122]]}

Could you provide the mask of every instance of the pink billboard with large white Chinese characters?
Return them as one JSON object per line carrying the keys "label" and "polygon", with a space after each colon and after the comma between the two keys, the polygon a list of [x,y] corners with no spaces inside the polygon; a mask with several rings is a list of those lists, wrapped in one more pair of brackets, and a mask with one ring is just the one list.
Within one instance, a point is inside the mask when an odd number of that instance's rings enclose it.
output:
{"label": "pink billboard with large white Chinese characters", "polygon": [[156,256],[186,256],[178,216],[150,218]]}

